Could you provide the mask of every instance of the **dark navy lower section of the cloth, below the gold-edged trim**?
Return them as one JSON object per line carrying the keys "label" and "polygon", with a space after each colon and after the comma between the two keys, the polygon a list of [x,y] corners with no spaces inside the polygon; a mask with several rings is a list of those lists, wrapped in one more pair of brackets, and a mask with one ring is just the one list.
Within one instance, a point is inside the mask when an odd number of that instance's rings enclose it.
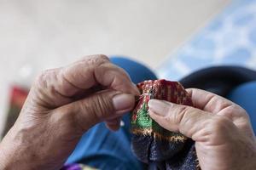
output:
{"label": "dark navy lower section of the cloth, below the gold-edged trim", "polygon": [[137,158],[152,170],[195,170],[198,164],[192,139],[169,142],[134,134],[131,146]]}

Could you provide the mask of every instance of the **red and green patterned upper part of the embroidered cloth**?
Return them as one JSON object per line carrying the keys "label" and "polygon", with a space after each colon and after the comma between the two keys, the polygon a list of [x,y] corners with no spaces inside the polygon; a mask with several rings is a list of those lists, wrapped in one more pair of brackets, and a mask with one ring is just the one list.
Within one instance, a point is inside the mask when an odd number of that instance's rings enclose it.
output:
{"label": "red and green patterned upper part of the embroidered cloth", "polygon": [[181,133],[167,131],[148,116],[149,99],[165,99],[177,104],[192,105],[188,94],[179,82],[166,80],[145,81],[137,85],[141,97],[137,102],[137,108],[131,116],[131,132],[143,135],[154,135],[156,138],[169,141],[184,141],[187,139]]}

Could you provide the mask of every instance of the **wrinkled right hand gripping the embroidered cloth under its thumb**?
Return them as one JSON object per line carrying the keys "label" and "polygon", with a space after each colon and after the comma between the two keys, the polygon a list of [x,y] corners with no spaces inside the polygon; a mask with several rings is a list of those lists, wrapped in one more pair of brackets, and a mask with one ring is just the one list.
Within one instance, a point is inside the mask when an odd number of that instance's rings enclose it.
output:
{"label": "wrinkled right hand gripping the embroidered cloth under its thumb", "polygon": [[247,112],[216,94],[187,89],[193,107],[151,99],[160,126],[195,140],[201,169],[256,169],[256,141]]}

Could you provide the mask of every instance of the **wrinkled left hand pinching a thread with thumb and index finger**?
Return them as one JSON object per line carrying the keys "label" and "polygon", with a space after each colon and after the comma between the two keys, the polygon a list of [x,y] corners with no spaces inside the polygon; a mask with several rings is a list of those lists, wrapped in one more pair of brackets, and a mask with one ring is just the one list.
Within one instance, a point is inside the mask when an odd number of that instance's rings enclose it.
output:
{"label": "wrinkled left hand pinching a thread with thumb and index finger", "polygon": [[104,55],[44,71],[0,144],[0,169],[60,169],[80,137],[98,122],[119,128],[139,92]]}

